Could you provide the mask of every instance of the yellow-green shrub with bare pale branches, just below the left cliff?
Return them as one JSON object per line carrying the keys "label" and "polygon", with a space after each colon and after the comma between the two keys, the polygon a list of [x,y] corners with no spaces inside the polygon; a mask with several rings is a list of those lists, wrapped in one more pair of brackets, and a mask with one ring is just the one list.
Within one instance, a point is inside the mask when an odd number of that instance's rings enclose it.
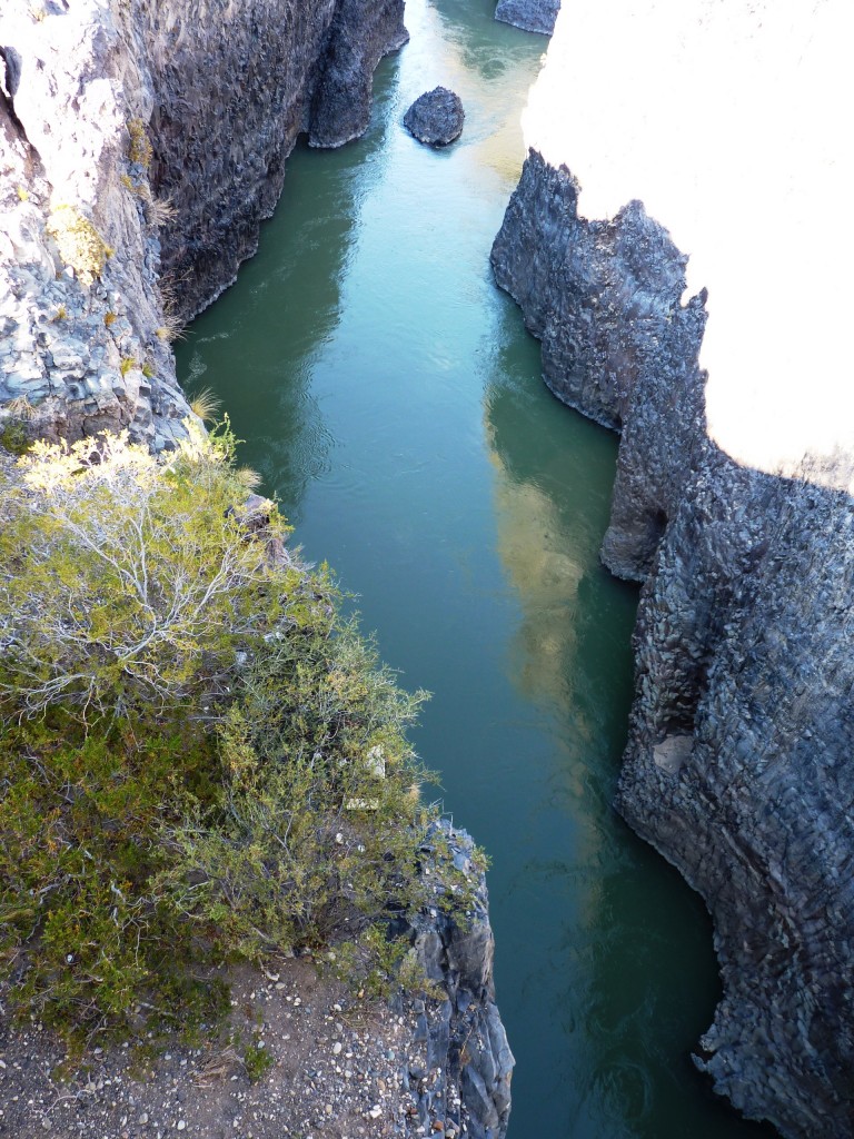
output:
{"label": "yellow-green shrub with bare pale branches, just below the left cliff", "polygon": [[165,468],[124,435],[19,460],[2,505],[0,710],[176,705],[203,675],[215,695],[236,646],[278,618],[277,575],[230,510],[245,492],[190,432]]}

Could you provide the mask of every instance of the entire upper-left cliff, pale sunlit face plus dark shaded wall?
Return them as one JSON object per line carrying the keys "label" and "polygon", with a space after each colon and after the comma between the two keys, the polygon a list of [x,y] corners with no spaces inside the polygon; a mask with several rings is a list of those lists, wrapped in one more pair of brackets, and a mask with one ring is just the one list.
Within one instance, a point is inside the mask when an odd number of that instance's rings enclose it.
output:
{"label": "entire upper-left cliff, pale sunlit face plus dark shaded wall", "polygon": [[158,450],[182,433],[171,338],[255,252],[297,136],[364,130],[402,18],[403,0],[3,6],[5,419]]}

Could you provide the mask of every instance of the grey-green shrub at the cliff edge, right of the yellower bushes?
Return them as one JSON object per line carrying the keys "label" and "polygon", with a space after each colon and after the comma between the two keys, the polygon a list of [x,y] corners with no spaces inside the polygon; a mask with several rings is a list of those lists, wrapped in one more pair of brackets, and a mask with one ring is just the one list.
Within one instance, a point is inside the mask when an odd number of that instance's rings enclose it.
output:
{"label": "grey-green shrub at the cliff edge, right of the yellower bushes", "polygon": [[265,645],[241,678],[215,825],[199,805],[167,828],[171,896],[246,957],[318,948],[417,900],[422,773],[403,728],[421,694],[377,669],[352,626],[325,624]]}

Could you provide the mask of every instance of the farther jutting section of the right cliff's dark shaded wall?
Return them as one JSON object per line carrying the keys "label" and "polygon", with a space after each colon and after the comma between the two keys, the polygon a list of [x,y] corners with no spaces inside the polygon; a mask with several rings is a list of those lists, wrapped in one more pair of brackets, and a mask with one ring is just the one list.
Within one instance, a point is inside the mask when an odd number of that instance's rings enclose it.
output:
{"label": "farther jutting section of the right cliff's dark shaded wall", "polygon": [[685,261],[640,202],[610,222],[578,218],[569,171],[533,150],[492,249],[498,284],[542,341],[548,386],[623,432],[602,558],[635,581],[652,567],[705,431],[705,296],[681,306]]}

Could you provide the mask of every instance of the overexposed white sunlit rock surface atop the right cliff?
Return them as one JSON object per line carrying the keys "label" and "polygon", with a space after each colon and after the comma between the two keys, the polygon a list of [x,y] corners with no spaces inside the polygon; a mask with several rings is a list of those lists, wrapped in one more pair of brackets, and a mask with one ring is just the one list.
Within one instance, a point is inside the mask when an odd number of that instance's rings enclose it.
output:
{"label": "overexposed white sunlit rock surface atop the right cliff", "polygon": [[688,255],[709,434],[772,472],[853,436],[849,39],[841,0],[575,0],[525,113],[582,216],[638,198]]}

